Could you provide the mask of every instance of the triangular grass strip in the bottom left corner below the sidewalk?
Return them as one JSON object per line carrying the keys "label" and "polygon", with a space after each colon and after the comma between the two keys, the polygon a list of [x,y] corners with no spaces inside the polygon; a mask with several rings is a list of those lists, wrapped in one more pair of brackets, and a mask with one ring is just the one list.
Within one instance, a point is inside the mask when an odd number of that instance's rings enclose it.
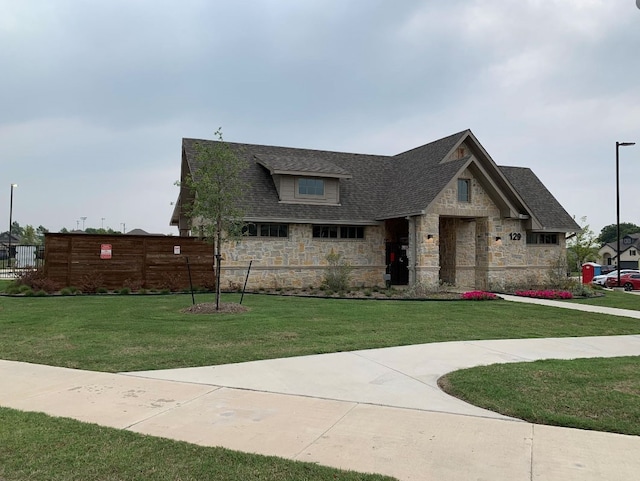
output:
{"label": "triangular grass strip in the bottom left corner below the sidewalk", "polygon": [[391,480],[0,408],[3,481]]}

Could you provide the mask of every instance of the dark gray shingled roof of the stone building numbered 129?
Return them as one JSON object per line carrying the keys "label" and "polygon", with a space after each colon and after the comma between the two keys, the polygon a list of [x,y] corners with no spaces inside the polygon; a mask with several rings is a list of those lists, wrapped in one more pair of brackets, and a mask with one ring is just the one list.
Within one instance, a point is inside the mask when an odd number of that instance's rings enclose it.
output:
{"label": "dark gray shingled roof of the stone building numbered 129", "polygon": [[[472,134],[465,130],[395,156],[228,145],[248,165],[246,180],[252,188],[244,199],[247,219],[375,223],[424,210],[468,164],[469,158],[443,162],[468,135]],[[215,143],[183,139],[183,150],[192,172],[197,169],[195,145],[198,142]],[[280,203],[272,171],[341,177],[340,205]],[[501,171],[545,227],[558,231],[579,228],[530,169],[505,167]]]}

